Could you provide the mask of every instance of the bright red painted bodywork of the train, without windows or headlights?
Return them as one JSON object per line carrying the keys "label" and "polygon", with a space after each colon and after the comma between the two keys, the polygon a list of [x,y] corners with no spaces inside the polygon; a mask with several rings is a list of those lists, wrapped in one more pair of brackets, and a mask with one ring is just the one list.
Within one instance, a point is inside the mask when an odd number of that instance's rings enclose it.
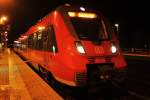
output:
{"label": "bright red painted bodywork of the train, without windows or headlights", "polygon": [[119,43],[114,34],[113,41],[118,48],[116,55],[112,55],[110,51],[111,41],[103,41],[100,45],[94,45],[90,41],[81,41],[86,54],[79,54],[75,48],[76,39],[69,33],[61,14],[57,12],[55,15],[55,13],[50,13],[42,21],[32,26],[24,35],[28,36],[36,32],[38,26],[53,25],[59,52],[54,55],[51,52],[42,52],[28,48],[26,52],[21,52],[26,58],[41,64],[52,75],[70,82],[75,82],[76,72],[86,73],[86,64],[89,63],[89,57],[94,58],[94,63],[98,64],[107,63],[104,57],[111,56],[111,62],[115,64],[116,68],[125,68],[126,62],[119,50]]}

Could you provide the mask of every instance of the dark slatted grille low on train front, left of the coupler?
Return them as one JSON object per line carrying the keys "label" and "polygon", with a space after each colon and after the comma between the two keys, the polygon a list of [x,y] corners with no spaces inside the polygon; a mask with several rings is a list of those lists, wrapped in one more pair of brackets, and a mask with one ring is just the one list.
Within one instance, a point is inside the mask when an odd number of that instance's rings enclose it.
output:
{"label": "dark slatted grille low on train front, left of the coupler", "polygon": [[84,72],[77,72],[76,73],[76,84],[78,86],[83,86],[86,84],[86,73]]}

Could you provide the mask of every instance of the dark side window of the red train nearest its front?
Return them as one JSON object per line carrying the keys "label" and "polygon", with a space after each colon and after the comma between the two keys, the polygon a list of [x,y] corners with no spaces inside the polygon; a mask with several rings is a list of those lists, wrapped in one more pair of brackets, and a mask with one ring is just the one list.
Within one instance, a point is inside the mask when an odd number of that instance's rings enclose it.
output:
{"label": "dark side window of the red train nearest its front", "polygon": [[44,50],[47,50],[53,53],[58,52],[55,31],[52,25],[47,27],[46,31],[44,32],[43,42],[44,42],[43,43]]}

